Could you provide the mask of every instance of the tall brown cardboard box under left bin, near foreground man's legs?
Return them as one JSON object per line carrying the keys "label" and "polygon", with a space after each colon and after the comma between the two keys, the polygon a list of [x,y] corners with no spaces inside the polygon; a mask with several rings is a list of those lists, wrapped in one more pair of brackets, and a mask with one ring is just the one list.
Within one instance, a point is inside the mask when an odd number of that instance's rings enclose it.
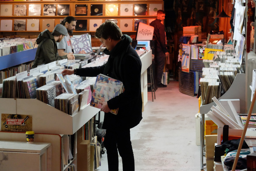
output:
{"label": "tall brown cardboard box under left bin, near foreground man's legs", "polygon": [[[77,146],[77,170],[79,170],[79,171],[90,171],[90,169],[91,169],[91,148],[90,148],[90,146],[91,145],[90,145],[89,140],[83,140]],[[93,152],[93,154],[94,154],[94,152]]]}

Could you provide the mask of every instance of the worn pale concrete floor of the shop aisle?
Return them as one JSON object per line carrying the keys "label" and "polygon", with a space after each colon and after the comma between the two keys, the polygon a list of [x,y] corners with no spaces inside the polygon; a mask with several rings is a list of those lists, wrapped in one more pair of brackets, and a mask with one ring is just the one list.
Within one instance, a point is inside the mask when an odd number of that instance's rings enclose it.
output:
{"label": "worn pale concrete floor of the shop aisle", "polygon": [[[131,129],[136,171],[199,171],[200,146],[196,145],[195,114],[198,98],[180,93],[178,81],[158,88],[148,103],[141,123]],[[106,153],[96,171],[108,171]],[[119,171],[122,159],[119,157]]]}

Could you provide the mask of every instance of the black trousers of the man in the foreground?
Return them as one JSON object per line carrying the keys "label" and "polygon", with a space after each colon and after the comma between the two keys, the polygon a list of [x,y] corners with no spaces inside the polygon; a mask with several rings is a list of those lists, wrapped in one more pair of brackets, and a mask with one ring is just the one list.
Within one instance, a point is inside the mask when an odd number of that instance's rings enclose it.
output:
{"label": "black trousers of the man in the foreground", "polygon": [[118,171],[118,152],[122,157],[123,171],[135,171],[129,128],[107,129],[104,146],[107,150],[109,171]]}

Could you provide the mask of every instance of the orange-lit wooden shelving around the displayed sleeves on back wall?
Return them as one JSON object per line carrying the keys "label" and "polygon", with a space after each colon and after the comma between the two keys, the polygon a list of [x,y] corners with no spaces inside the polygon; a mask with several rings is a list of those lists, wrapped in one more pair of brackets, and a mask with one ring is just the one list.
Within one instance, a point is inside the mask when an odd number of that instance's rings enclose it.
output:
{"label": "orange-lit wooden shelving around the displayed sleeves on back wall", "polygon": [[[58,16],[58,5],[59,4],[68,4],[69,5],[69,16],[75,17],[77,20],[87,20],[87,29],[83,29],[83,31],[74,31],[74,35],[79,35],[79,34],[85,34],[85,33],[91,33],[94,34],[95,30],[90,30],[90,22],[93,22],[95,19],[101,19],[102,23],[105,22],[106,19],[115,19],[117,20],[117,25],[120,27],[120,21],[122,19],[131,19],[132,20],[132,29],[125,30],[123,32],[125,33],[130,33],[130,34],[135,34],[137,30],[134,28],[134,22],[135,19],[146,19],[147,24],[150,24],[150,21],[155,20],[156,16],[151,15],[150,16],[150,10],[154,10],[155,12],[157,11],[157,8],[152,5],[152,4],[161,4],[161,8],[163,9],[163,0],[134,0],[134,1],[129,1],[129,0],[112,0],[112,1],[103,1],[103,0],[81,0],[81,1],[75,1],[75,0],[70,0],[70,1],[62,1],[62,0],[56,0],[56,1],[47,1],[47,0],[40,0],[40,1],[1,1],[1,6],[5,4],[12,4],[12,16],[0,16],[0,20],[12,20],[12,31],[3,31],[0,30],[0,33],[2,37],[6,36],[13,36],[13,37],[26,37],[26,38],[35,38],[37,37],[38,34],[44,30],[43,28],[43,20],[45,19],[53,19],[54,20],[54,26],[56,24],[60,23],[60,20],[64,19],[66,16]],[[30,4],[40,4],[41,5],[41,14],[40,16],[29,16],[29,5]],[[55,4],[56,5],[56,14],[55,16],[44,16],[44,5],[45,4]],[[75,6],[76,5],[87,5],[87,16],[77,16],[75,13]],[[91,16],[91,5],[95,4],[102,4],[102,16]],[[105,10],[106,6],[109,4],[117,4],[118,5],[118,15],[117,16],[106,16]],[[132,15],[131,16],[121,16],[120,15],[120,10],[121,10],[121,4],[133,4],[132,8]],[[146,15],[143,16],[135,16],[134,15],[134,7],[135,4],[147,4],[147,13]],[[26,5],[26,16],[14,16],[14,6],[15,5]],[[151,6],[150,6],[151,5]],[[151,7],[151,9],[150,9]],[[155,9],[153,9],[153,7]],[[2,9],[2,8],[1,8]],[[0,9],[0,10],[1,10]],[[3,8],[4,9],[4,8]],[[2,9],[2,10],[3,10]],[[1,12],[1,11],[0,11]],[[3,11],[2,11],[3,12]],[[152,12],[151,12],[152,13]],[[29,19],[39,19],[39,30],[38,31],[28,31],[27,30],[27,21]],[[26,29],[25,31],[16,31],[14,30],[14,20],[26,20]],[[52,28],[52,27],[51,27]],[[52,30],[50,30],[52,31]],[[29,37],[30,36],[30,37]]]}

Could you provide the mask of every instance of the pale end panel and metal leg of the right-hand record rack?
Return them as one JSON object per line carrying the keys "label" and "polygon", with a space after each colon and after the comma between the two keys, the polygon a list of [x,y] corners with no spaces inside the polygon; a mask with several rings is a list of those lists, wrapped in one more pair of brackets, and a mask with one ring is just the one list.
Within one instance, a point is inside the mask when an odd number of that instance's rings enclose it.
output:
{"label": "pale end panel and metal leg of the right-hand record rack", "polygon": [[[235,93],[234,93],[235,92]],[[237,74],[233,84],[229,90],[223,94],[219,99],[239,99],[240,100],[240,113],[245,113],[245,74]],[[218,100],[219,100],[218,99]],[[200,167],[204,170],[203,166],[203,150],[204,150],[204,115],[210,111],[212,106],[216,106],[214,102],[200,107]]]}

